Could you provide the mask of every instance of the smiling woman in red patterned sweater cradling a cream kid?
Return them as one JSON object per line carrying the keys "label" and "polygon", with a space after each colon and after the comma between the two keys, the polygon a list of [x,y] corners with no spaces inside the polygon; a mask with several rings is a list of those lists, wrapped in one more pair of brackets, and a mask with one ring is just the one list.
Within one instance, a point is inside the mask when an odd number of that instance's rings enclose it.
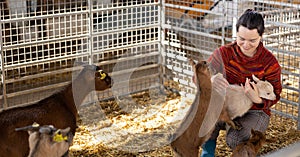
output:
{"label": "smiling woman in red patterned sweater cradling a cream kid", "polygon": [[[212,83],[218,90],[225,90],[229,84],[244,84],[246,95],[252,100],[252,108],[242,117],[234,119],[241,130],[227,130],[226,143],[234,149],[239,143],[248,140],[251,129],[265,132],[270,121],[270,107],[280,99],[281,68],[270,51],[261,42],[264,33],[264,19],[258,12],[248,9],[236,24],[237,39],[233,43],[217,49],[208,59],[212,70],[223,74],[224,78],[212,77]],[[261,80],[268,80],[274,87],[276,100],[270,101],[258,96],[252,80],[254,74]],[[210,139],[202,146],[201,157],[213,157],[219,131],[225,129],[224,122],[218,122]]]}

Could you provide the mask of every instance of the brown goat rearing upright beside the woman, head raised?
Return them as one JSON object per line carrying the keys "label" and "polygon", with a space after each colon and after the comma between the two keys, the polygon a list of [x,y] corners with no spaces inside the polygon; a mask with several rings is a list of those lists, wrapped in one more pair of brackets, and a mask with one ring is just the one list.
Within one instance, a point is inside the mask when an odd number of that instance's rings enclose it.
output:
{"label": "brown goat rearing upright beside the woman, head raised", "polygon": [[[195,64],[194,61],[190,60],[190,64],[194,71],[193,81],[197,85],[196,98],[176,131],[175,138],[176,136],[178,138],[171,142],[171,147],[175,156],[198,157],[200,146],[209,137],[199,137],[199,130],[209,106],[212,86],[206,61],[199,61]],[[214,124],[212,125],[214,126]]]}

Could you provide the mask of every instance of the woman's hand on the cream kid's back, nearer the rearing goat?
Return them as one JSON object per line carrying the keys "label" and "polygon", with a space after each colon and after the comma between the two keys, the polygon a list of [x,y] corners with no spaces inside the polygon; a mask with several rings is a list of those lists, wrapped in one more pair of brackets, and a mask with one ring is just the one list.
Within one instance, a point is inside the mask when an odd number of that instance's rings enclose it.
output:
{"label": "woman's hand on the cream kid's back, nearer the rearing goat", "polygon": [[217,91],[219,94],[226,94],[226,88],[229,86],[228,81],[223,77],[222,74],[218,73],[211,77],[211,82],[213,89]]}

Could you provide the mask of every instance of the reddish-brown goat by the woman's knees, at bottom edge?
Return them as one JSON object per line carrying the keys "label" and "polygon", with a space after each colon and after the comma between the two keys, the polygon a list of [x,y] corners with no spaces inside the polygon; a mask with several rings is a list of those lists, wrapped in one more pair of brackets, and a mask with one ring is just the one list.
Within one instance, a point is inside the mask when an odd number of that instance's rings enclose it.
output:
{"label": "reddish-brown goat by the woman's knees, at bottom edge", "polygon": [[233,150],[232,157],[256,157],[259,149],[269,142],[264,133],[251,129],[251,137],[248,141],[238,144]]}

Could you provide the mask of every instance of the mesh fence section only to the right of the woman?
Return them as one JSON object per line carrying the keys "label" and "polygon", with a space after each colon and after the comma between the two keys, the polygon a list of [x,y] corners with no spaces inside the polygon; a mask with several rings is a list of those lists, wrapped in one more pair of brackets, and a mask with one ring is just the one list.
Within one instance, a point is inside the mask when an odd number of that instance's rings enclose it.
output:
{"label": "mesh fence section only to the right of the woman", "polygon": [[266,1],[260,2],[265,7],[258,7],[266,19],[264,43],[277,57],[282,67],[283,91],[281,101],[273,112],[298,120],[300,128],[300,2]]}

